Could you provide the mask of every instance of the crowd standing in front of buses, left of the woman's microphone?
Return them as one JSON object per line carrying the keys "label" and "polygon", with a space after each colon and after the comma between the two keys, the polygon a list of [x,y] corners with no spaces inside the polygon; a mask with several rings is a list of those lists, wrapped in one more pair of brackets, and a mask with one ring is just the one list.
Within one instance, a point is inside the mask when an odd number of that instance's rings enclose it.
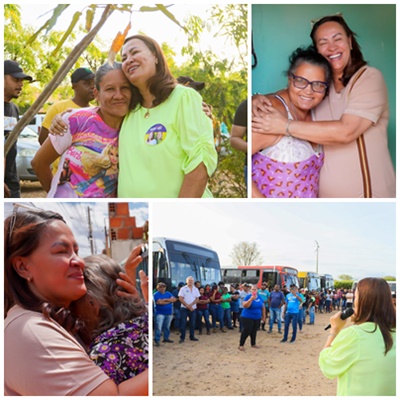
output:
{"label": "crowd standing in front of buses, left of the woman's microphone", "polygon": [[[247,337],[251,338],[252,347],[256,345],[257,331],[273,332],[276,324],[278,333],[284,334],[282,342],[287,341],[289,325],[292,325],[291,341],[296,340],[296,333],[308,323],[314,325],[319,294],[305,289],[279,285],[269,287],[263,282],[261,288],[244,283],[225,285],[224,282],[201,285],[193,277],[188,277],[171,292],[163,282],[157,284],[154,292],[155,346],[173,343],[170,339],[171,323],[179,343],[186,338],[189,321],[189,339],[198,341],[195,336],[226,333],[237,329],[241,333],[239,349],[244,350]],[[284,330],[282,330],[284,325]]]}

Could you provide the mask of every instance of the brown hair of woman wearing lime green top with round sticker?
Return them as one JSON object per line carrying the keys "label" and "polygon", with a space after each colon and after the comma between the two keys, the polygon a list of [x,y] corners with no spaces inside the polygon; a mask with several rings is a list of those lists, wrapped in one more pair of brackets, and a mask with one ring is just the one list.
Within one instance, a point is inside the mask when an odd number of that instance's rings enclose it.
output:
{"label": "brown hair of woman wearing lime green top with round sticker", "polygon": [[[153,106],[157,106],[168,99],[169,95],[177,85],[176,79],[171,74],[160,45],[154,39],[145,35],[134,35],[125,39],[124,46],[133,39],[141,40],[158,60],[158,63],[156,64],[156,73],[147,82],[150,93],[155,96]],[[142,104],[142,102],[143,97],[140,94],[139,89],[133,86],[131,109],[135,109],[137,105]]]}

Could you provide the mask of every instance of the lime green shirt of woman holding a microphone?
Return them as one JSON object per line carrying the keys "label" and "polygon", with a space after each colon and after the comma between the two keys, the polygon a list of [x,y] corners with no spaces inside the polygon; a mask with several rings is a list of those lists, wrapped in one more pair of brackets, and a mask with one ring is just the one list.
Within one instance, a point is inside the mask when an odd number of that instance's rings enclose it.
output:
{"label": "lime green shirt of woman holding a microphone", "polygon": [[374,329],[373,322],[352,325],[321,351],[319,366],[327,378],[338,378],[338,396],[396,395],[396,333],[385,356],[381,331]]}

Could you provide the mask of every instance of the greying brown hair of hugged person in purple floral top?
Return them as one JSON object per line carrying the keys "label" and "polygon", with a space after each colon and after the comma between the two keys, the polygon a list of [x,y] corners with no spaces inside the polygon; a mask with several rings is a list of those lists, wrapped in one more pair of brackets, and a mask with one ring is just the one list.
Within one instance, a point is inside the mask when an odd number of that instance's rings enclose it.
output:
{"label": "greying brown hair of hugged person in purple floral top", "polygon": [[99,306],[97,326],[92,339],[102,332],[147,312],[140,298],[126,299],[117,295],[122,290],[116,280],[123,268],[106,255],[93,255],[85,259],[85,283],[87,295]]}

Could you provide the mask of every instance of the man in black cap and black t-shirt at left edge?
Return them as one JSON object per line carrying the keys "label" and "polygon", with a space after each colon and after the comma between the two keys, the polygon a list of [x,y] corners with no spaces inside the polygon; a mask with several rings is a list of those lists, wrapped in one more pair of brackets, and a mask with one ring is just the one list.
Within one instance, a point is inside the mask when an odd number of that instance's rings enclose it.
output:
{"label": "man in black cap and black t-shirt at left edge", "polygon": [[[19,110],[11,100],[17,99],[21,94],[24,80],[32,81],[32,77],[24,74],[16,61],[4,61],[4,140],[18,122]],[[13,144],[5,160],[4,197],[21,197],[16,157],[17,142]]]}

